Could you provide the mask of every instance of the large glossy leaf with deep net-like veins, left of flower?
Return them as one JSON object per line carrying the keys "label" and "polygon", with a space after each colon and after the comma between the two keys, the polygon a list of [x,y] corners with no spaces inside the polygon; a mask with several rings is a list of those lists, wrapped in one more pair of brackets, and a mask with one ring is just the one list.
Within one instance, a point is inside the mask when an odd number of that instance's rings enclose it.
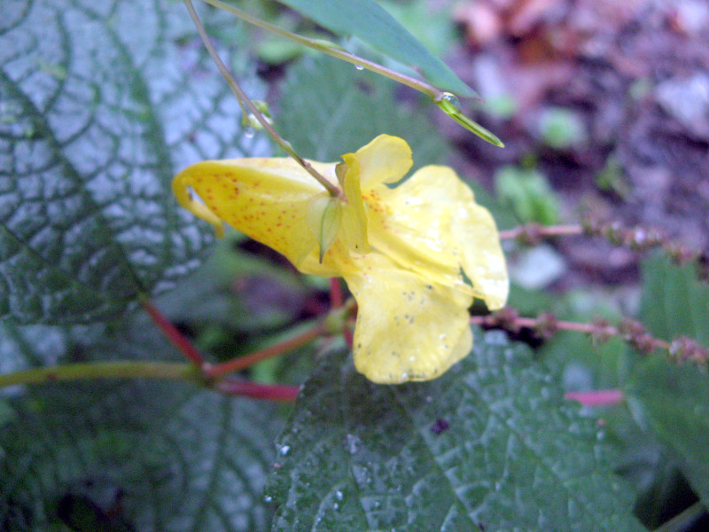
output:
{"label": "large glossy leaf with deep net-like veins, left of flower", "polygon": [[174,3],[4,4],[0,317],[114,316],[199,264],[212,237],[172,176],[263,143],[194,35]]}

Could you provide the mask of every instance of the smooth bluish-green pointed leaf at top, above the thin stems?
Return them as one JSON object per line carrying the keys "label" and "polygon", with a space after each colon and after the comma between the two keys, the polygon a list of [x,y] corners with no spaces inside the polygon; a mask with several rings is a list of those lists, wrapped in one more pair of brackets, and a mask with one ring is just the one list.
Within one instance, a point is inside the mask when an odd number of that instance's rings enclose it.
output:
{"label": "smooth bluish-green pointed leaf at top, above the thin stems", "polygon": [[411,66],[443,90],[475,97],[475,91],[374,0],[278,0],[338,35],[354,35],[392,59]]}

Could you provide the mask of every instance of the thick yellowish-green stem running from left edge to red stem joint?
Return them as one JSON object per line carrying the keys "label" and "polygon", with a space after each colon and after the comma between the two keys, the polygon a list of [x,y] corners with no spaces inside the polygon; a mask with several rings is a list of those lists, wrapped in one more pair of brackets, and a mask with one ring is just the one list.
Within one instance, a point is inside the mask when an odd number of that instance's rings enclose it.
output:
{"label": "thick yellowish-green stem running from left edge to red stem joint", "polygon": [[47,384],[81,379],[148,379],[203,380],[202,372],[194,364],[175,362],[86,362],[33,368],[0,375],[0,387],[19,384]]}

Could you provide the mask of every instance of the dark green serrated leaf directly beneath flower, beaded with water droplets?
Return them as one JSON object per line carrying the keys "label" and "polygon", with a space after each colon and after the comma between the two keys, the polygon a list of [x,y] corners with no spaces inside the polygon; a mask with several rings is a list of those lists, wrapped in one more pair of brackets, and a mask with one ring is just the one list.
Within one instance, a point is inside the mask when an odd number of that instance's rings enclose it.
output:
{"label": "dark green serrated leaf directly beneath flower, beaded with water droplets", "polygon": [[277,440],[274,531],[643,529],[603,431],[502,333],[404,386],[346,356],[324,359]]}

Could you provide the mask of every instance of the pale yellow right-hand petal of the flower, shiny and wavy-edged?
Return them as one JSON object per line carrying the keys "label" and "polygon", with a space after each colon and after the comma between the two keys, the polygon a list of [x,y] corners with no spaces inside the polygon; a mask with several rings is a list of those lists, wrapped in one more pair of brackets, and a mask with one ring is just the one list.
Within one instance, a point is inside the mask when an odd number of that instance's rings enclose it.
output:
{"label": "pale yellow right-hand petal of the flower, shiny and wavy-edged", "polygon": [[461,290],[464,270],[471,293],[489,309],[504,306],[509,283],[495,221],[451,168],[422,168],[393,190],[376,187],[370,201],[372,246],[423,277]]}

